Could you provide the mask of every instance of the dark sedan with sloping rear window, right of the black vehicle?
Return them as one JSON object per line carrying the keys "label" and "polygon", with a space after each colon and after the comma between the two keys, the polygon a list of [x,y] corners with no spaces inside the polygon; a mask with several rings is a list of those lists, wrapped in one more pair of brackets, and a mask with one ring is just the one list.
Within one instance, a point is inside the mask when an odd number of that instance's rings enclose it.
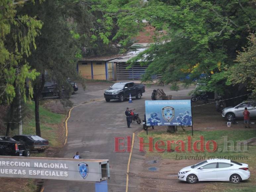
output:
{"label": "dark sedan with sloping rear window, right of the black vehicle", "polygon": [[50,146],[48,140],[37,135],[15,135],[13,139],[25,143],[28,149],[38,150],[38,152],[43,152]]}

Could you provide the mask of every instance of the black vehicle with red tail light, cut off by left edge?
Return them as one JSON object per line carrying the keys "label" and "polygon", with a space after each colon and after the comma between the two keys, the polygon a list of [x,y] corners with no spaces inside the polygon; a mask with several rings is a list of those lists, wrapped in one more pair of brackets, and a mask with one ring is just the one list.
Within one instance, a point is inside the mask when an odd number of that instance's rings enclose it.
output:
{"label": "black vehicle with red tail light, cut off by left edge", "polygon": [[23,142],[16,141],[11,137],[0,136],[0,155],[29,157],[30,150]]}

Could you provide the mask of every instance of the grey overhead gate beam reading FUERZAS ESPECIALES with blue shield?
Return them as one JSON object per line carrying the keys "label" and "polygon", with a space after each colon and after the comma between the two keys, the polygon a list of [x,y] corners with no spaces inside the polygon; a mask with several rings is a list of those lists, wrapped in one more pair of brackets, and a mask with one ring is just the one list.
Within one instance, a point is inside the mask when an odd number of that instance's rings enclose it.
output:
{"label": "grey overhead gate beam reading FUERZAS ESPECIALES with blue shield", "polygon": [[[102,166],[106,169],[104,176]],[[108,160],[0,156],[0,177],[100,182],[109,177],[109,163]]]}

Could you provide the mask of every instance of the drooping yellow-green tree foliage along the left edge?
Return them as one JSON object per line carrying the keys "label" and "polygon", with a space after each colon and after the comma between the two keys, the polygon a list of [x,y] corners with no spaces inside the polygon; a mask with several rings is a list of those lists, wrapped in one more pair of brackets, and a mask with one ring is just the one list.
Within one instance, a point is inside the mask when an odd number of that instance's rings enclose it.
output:
{"label": "drooping yellow-green tree foliage along the left edge", "polygon": [[[25,59],[31,54],[30,45],[36,48],[35,37],[40,34],[42,22],[27,14],[17,14],[17,8],[23,9],[24,2],[0,2],[0,101],[6,99],[8,103],[15,97],[16,87],[26,100],[26,78],[33,80],[38,75]],[[31,95],[31,84],[29,87]]]}

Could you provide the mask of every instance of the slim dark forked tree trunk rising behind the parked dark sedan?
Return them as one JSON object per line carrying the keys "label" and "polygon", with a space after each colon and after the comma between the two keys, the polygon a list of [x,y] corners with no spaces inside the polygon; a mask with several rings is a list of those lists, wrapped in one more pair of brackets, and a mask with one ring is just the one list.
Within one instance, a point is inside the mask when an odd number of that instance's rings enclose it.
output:
{"label": "slim dark forked tree trunk rising behind the parked dark sedan", "polygon": [[[34,91],[34,100],[35,100],[35,131],[36,131],[36,135],[38,135],[39,137],[41,137],[41,129],[40,129],[40,118],[39,118],[39,98],[41,95],[41,92],[43,90],[44,87],[44,82],[45,82],[45,78],[44,78],[44,71],[42,72],[42,81],[41,81],[41,85],[39,87],[39,83],[35,85],[35,91]],[[39,87],[39,88],[38,88]]]}

